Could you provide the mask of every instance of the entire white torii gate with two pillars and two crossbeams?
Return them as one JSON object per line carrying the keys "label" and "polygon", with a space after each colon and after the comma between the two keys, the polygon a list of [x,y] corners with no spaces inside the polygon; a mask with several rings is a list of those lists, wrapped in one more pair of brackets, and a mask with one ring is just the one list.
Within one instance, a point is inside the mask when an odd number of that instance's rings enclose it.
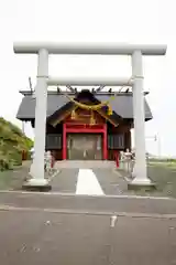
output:
{"label": "entire white torii gate with two pillars and two crossbeams", "polygon": [[[145,161],[145,128],[144,128],[144,96],[143,96],[143,65],[142,55],[165,55],[166,45],[135,45],[119,43],[31,43],[18,42],[13,44],[14,53],[37,54],[37,82],[35,88],[35,156],[31,168],[31,187],[47,187],[44,179],[44,152],[45,152],[45,126],[47,108],[48,85],[130,85],[133,91],[133,117],[134,117],[134,146],[135,146],[135,178],[131,184],[151,186],[146,173]],[[133,78],[95,78],[95,77],[58,77],[48,76],[50,54],[102,54],[102,55],[130,55],[132,59]]]}

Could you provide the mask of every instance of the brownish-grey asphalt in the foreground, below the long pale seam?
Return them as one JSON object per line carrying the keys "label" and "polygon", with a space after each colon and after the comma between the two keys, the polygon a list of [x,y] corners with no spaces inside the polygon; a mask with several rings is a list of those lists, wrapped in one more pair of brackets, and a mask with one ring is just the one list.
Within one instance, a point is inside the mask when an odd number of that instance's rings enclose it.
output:
{"label": "brownish-grey asphalt in the foreground, below the long pale seam", "polygon": [[[140,216],[0,211],[3,265],[166,265],[176,258],[176,222]],[[174,263],[173,263],[174,264]]]}

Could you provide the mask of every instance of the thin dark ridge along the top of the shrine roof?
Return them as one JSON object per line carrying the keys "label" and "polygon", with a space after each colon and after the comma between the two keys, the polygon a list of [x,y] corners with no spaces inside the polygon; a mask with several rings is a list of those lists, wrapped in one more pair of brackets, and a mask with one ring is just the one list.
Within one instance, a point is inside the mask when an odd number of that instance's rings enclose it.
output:
{"label": "thin dark ridge along the top of the shrine roof", "polygon": [[[19,91],[20,94],[22,94],[23,96],[31,96],[33,95],[31,91]],[[79,92],[78,92],[79,93]],[[48,91],[47,95],[63,95],[63,94],[67,94],[67,95],[75,95],[75,93],[72,92],[56,92],[56,91]],[[94,94],[94,93],[92,93]],[[116,93],[118,96],[132,96],[132,92],[117,92]],[[148,95],[150,92],[144,92],[144,95]],[[99,93],[95,93],[96,95],[108,95],[108,96],[114,96],[114,93],[109,93],[109,92],[99,92]]]}

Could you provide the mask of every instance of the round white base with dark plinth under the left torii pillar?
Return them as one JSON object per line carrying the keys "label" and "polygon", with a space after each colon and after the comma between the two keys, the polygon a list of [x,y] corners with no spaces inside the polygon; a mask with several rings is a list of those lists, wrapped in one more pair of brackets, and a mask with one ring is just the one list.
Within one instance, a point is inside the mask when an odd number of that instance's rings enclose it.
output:
{"label": "round white base with dark plinth under the left torii pillar", "polygon": [[23,190],[26,191],[50,191],[52,189],[52,186],[48,184],[48,181],[46,179],[30,179],[26,182],[24,182]]}

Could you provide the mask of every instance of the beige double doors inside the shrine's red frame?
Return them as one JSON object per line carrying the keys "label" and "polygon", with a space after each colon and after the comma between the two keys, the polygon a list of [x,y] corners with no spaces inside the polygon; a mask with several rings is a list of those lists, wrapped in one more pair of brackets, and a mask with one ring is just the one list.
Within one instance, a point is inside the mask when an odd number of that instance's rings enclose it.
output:
{"label": "beige double doors inside the shrine's red frame", "polygon": [[67,159],[101,160],[102,137],[100,134],[68,134]]}

